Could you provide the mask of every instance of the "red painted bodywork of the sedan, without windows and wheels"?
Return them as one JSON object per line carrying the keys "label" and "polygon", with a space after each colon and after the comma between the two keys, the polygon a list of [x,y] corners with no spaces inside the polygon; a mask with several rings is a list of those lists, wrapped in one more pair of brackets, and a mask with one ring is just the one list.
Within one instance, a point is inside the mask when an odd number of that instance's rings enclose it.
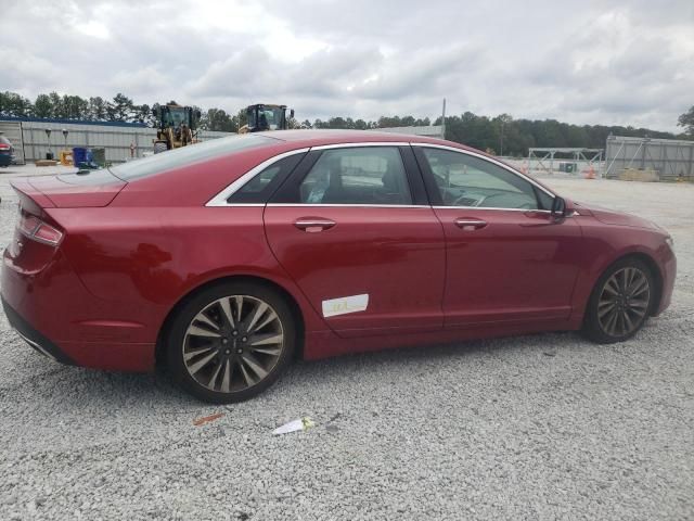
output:
{"label": "red painted bodywork of the sedan, without windows and wheels", "polygon": [[[622,214],[578,206],[580,215],[553,221],[548,214],[427,205],[205,206],[291,150],[367,141],[470,150],[377,132],[274,136],[265,147],[129,182],[13,181],[25,212],[64,237],[53,247],[15,234],[3,254],[3,301],[76,364],[136,371],[153,368],[176,305],[226,277],[262,279],[291,296],[306,358],[578,329],[596,279],[626,254],[657,267],[657,313],[670,303],[677,262],[667,233]],[[304,217],[336,225],[306,232],[294,227]],[[461,229],[459,217],[488,226]],[[365,312],[323,317],[322,301],[362,293],[370,295]]]}

